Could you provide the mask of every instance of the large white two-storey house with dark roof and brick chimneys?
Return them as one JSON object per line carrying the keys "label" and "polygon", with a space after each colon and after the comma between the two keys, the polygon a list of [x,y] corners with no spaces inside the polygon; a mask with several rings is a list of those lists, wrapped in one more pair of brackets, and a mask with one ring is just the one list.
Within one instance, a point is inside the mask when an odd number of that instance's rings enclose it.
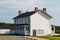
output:
{"label": "large white two-storey house with dark roof and brick chimneys", "polygon": [[14,26],[11,32],[30,36],[45,36],[52,33],[50,19],[52,17],[46,12],[46,8],[34,8],[34,11],[21,13],[14,17]]}

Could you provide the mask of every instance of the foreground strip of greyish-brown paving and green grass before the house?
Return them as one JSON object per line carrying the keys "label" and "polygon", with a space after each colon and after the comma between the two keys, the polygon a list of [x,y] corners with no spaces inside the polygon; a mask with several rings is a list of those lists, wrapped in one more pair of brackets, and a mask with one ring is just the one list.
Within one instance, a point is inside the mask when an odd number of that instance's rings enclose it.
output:
{"label": "foreground strip of greyish-brown paving and green grass before the house", "polygon": [[60,40],[58,36],[16,36],[0,35],[0,40]]}

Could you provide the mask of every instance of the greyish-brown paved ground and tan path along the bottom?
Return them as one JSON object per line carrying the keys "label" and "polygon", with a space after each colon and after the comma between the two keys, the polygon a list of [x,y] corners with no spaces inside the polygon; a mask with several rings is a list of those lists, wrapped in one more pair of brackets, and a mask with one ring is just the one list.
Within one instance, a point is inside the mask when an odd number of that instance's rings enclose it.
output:
{"label": "greyish-brown paved ground and tan path along the bottom", "polygon": [[[0,40],[34,40],[36,37],[29,37],[29,36],[0,36]],[[46,40],[43,38],[39,38],[38,40]]]}

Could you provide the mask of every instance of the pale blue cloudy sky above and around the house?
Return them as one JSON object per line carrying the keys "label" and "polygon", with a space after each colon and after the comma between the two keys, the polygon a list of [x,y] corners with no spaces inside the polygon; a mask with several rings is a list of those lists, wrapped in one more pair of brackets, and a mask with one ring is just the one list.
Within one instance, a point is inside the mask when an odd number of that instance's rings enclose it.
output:
{"label": "pale blue cloudy sky above and around the house", "polygon": [[53,18],[51,24],[60,25],[60,0],[0,0],[0,22],[13,23],[13,17],[18,11],[32,11],[34,7],[47,8],[47,13]]}

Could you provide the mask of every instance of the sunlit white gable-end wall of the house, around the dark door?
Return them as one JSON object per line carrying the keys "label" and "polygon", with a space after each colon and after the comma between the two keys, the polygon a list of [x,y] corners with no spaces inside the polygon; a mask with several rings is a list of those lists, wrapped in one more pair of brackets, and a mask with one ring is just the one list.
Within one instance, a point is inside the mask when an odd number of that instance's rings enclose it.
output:
{"label": "sunlit white gable-end wall of the house, around the dark door", "polygon": [[[40,14],[41,13],[41,14]],[[33,30],[36,30],[36,36],[44,36],[51,34],[51,27],[48,16],[42,12],[37,12],[30,16],[30,35],[33,36]]]}

